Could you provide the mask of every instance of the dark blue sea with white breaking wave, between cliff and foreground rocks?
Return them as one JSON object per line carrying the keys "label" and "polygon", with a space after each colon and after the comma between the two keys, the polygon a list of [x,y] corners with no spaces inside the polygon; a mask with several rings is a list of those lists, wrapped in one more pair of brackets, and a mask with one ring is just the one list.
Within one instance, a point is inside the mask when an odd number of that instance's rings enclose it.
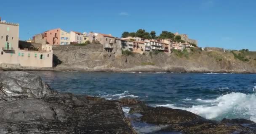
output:
{"label": "dark blue sea with white breaking wave, between cliff and foreground rocks", "polygon": [[[59,92],[115,100],[136,98],[149,106],[182,109],[206,119],[256,122],[256,74],[33,72]],[[129,107],[123,107],[128,114]],[[160,129],[133,124],[140,133]],[[174,133],[173,133],[174,134]]]}

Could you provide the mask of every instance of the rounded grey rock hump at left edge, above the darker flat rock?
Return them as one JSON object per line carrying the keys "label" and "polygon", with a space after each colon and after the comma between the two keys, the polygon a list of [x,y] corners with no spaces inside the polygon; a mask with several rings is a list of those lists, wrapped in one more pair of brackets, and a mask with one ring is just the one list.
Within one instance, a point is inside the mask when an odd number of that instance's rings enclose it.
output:
{"label": "rounded grey rock hump at left edge, above the darker flat rock", "polygon": [[8,96],[42,97],[56,94],[41,77],[28,72],[0,73],[0,98]]}

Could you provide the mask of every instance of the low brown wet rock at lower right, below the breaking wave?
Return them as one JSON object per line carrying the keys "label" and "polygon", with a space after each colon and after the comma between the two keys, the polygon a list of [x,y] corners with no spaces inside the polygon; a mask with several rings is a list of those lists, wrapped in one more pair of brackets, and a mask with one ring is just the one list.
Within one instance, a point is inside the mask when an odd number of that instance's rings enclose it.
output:
{"label": "low brown wet rock at lower right, below the breaking wave", "polygon": [[211,121],[189,111],[144,104],[134,106],[129,113],[141,113],[137,120],[156,125],[168,125],[161,131],[176,131],[182,134],[256,134],[255,123],[245,119]]}

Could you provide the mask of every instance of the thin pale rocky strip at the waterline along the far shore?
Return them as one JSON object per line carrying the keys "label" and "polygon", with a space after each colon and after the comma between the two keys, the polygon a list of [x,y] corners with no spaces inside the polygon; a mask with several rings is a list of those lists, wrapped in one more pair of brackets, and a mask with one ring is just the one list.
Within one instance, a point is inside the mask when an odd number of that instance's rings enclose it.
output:
{"label": "thin pale rocky strip at the waterline along the far shore", "polygon": [[76,68],[76,67],[53,67],[53,68],[41,68],[41,67],[4,67],[0,68],[0,71],[79,71],[79,72],[167,72],[167,73],[235,73],[235,74],[256,74],[254,71],[247,70],[207,70],[207,69],[185,69],[184,67],[133,67],[133,68]]}

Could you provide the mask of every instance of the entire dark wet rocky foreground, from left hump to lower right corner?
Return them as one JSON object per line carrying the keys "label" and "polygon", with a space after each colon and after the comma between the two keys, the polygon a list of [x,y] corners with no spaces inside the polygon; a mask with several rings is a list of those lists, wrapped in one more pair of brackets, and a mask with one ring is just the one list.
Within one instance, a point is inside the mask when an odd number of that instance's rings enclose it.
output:
{"label": "entire dark wet rocky foreground, from left hump to lower right corner", "polygon": [[[125,117],[122,106],[141,116]],[[245,119],[218,122],[134,99],[58,93],[34,74],[0,72],[0,134],[136,134],[131,121],[164,125],[167,133],[256,134],[256,124]]]}

